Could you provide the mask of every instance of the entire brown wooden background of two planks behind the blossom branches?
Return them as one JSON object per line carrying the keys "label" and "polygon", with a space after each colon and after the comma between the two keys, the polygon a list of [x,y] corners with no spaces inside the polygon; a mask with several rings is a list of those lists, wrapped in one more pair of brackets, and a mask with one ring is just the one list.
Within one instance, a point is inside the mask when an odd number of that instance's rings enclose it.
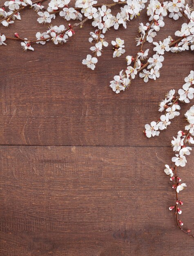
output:
{"label": "entire brown wooden background of two planks behind the blossom branches", "polygon": [[[1,33],[34,38],[47,29],[32,10],[21,16]],[[183,21],[165,18],[156,41],[173,36]],[[53,25],[64,22],[58,17]],[[166,53],[157,81],[136,77],[115,94],[109,81],[126,67],[125,56],[136,54],[140,22],[147,22],[146,10],[126,30],[106,34],[109,43],[124,39],[126,54],[112,58],[109,44],[94,71],[81,64],[90,53],[90,22],[65,45],[34,45],[34,52],[23,52],[17,41],[0,47],[1,256],[194,255],[194,240],[168,210],[175,193],[163,171],[173,156],[172,136],[194,102],[182,105],[160,137],[142,132],[158,119],[165,92],[181,88],[194,69],[194,54]],[[193,162],[192,153],[180,171],[187,184],[181,220],[190,229]]]}

